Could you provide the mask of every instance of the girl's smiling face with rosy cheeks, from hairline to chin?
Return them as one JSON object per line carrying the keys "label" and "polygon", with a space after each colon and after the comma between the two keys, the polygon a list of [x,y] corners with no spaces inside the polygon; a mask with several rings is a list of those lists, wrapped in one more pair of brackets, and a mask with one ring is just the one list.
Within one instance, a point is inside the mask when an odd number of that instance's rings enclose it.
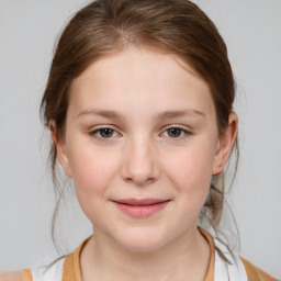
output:
{"label": "girl's smiling face with rosy cheeks, from hairline to chin", "polygon": [[71,86],[58,157],[100,240],[154,250],[196,232],[232,134],[218,138],[207,83],[179,61],[127,47]]}

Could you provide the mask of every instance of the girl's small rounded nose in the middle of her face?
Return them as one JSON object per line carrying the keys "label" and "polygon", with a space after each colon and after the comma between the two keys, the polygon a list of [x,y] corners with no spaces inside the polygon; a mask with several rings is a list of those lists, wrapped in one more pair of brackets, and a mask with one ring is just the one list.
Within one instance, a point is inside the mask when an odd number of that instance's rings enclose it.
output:
{"label": "girl's small rounded nose in the middle of her face", "polygon": [[122,155],[122,178],[136,186],[155,182],[160,175],[156,148],[145,139],[126,144]]}

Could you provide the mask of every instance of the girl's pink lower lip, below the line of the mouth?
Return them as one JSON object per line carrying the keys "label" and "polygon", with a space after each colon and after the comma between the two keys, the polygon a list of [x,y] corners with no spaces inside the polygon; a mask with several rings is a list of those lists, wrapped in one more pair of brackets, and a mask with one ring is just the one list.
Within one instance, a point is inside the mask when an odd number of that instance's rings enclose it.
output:
{"label": "girl's pink lower lip, below the line of the mouth", "polygon": [[123,211],[124,213],[131,216],[147,217],[161,211],[169,203],[169,201],[165,201],[165,202],[160,202],[151,205],[143,205],[143,206],[127,205],[119,202],[114,202],[114,203],[121,211]]}

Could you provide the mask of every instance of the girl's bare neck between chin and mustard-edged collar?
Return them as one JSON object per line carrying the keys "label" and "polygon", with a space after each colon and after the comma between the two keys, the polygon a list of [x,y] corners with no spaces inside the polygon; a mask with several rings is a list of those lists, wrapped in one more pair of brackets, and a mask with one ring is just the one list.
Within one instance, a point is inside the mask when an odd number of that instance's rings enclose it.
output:
{"label": "girl's bare neck between chin and mustard-edged collar", "polygon": [[210,246],[198,228],[154,251],[130,251],[95,232],[81,251],[80,265],[83,281],[203,281],[209,260]]}

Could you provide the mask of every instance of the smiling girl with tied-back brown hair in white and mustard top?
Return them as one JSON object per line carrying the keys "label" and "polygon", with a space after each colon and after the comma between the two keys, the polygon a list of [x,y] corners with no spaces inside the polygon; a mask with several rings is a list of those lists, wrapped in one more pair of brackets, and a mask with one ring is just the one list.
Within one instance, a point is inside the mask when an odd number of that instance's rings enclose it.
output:
{"label": "smiling girl with tied-back brown hair in white and mustard top", "polygon": [[238,117],[227,50],[188,0],[99,0],[57,44],[42,101],[93,235],[0,280],[276,280],[213,239]]}

